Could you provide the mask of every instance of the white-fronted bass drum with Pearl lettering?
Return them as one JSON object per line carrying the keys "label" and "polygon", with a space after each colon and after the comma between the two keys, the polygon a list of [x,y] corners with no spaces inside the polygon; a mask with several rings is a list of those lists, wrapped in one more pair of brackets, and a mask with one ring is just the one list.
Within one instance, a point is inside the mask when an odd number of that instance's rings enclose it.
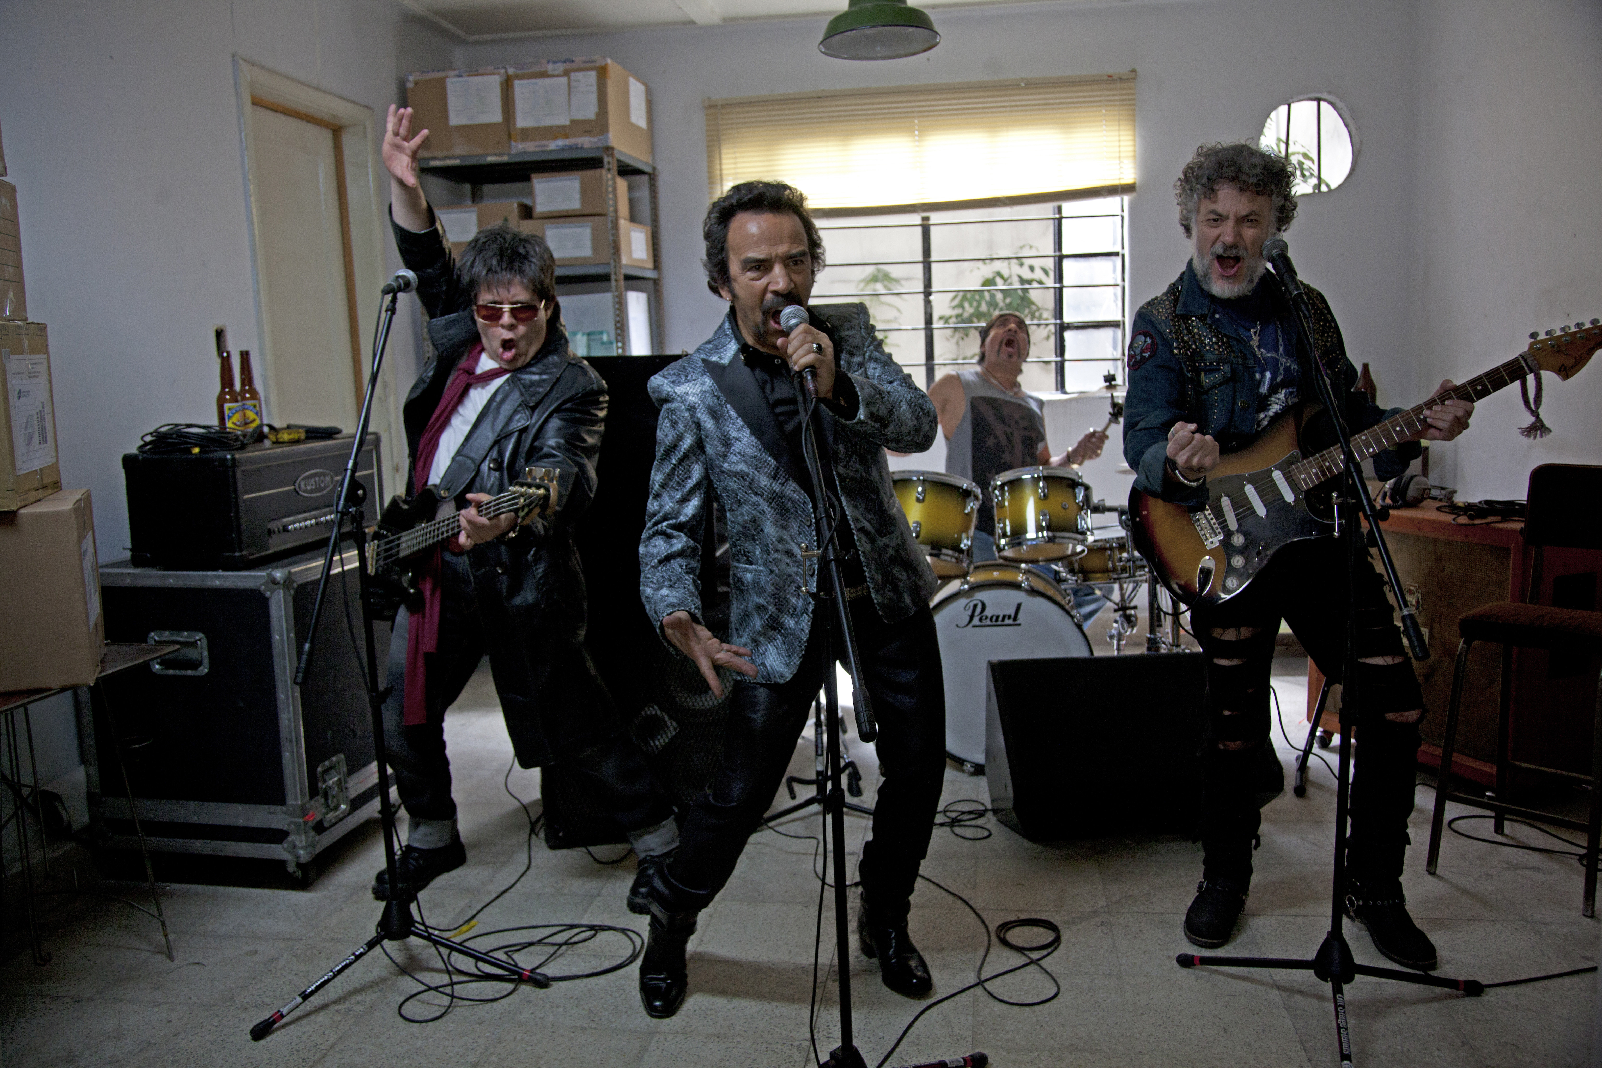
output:
{"label": "white-fronted bass drum with Pearl lettering", "polygon": [[942,586],[929,607],[945,676],[945,753],[977,770],[985,764],[988,663],[1089,656],[1091,644],[1073,602],[1032,567],[976,564]]}

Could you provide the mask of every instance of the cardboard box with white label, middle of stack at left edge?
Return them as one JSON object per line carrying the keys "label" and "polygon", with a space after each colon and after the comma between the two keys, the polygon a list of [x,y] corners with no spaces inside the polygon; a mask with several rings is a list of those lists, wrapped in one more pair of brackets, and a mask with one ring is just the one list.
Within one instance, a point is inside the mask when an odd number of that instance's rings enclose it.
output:
{"label": "cardboard box with white label, middle of stack at left edge", "polygon": [[61,488],[45,323],[0,322],[0,512],[14,512]]}

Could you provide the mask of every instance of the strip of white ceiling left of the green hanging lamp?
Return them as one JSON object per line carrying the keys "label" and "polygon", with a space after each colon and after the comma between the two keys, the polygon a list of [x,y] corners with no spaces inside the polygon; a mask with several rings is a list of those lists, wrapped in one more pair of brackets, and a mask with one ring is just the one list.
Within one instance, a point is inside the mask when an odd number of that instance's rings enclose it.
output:
{"label": "strip of white ceiling left of the green hanging lamp", "polygon": [[[748,19],[828,18],[846,0],[402,0],[466,38],[695,26]],[[918,0],[921,8],[1008,0]]]}

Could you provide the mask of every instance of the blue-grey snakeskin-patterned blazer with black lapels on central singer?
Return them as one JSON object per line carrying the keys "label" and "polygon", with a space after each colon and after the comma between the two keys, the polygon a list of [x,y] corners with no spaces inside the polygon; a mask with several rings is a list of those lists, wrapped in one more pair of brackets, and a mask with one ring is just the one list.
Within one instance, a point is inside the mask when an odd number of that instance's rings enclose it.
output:
{"label": "blue-grey snakeskin-patterned blazer with black lapels on central singer", "polygon": [[[873,605],[888,623],[928,607],[937,581],[891,488],[884,450],[916,453],[934,442],[929,395],[884,352],[865,304],[819,304],[833,333],[836,373],[857,387],[852,420],[822,412],[822,442],[839,500],[862,554]],[[751,650],[758,682],[785,682],[801,664],[812,626],[817,546],[812,498],[791,472],[804,472],[767,407],[756,376],[739,359],[727,317],[695,352],[655,375],[650,397],[657,461],[650,472],[639,586],[660,626],[673,612],[702,618],[700,538],[708,488],[729,524],[729,640]]]}

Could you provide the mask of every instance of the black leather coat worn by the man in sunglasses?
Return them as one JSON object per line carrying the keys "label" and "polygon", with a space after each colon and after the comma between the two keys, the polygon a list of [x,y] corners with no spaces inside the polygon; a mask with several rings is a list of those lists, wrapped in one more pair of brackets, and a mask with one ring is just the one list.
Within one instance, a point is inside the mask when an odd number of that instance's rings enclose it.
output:
{"label": "black leather coat worn by the man in sunglasses", "polygon": [[[423,368],[402,405],[407,471],[417,466],[417,444],[445,381],[479,341],[473,296],[457,282],[444,234],[418,234],[394,226],[400,259],[418,275],[418,298],[429,315],[434,359]],[[585,637],[585,578],[574,544],[574,525],[596,488],[596,456],[606,420],[606,383],[567,351],[559,309],[535,357],[495,391],[477,423],[439,480],[442,495],[466,508],[466,493],[500,493],[525,468],[554,468],[559,492],[553,516],[535,519],[513,538],[468,551],[490,663],[506,727],[524,767],[546,764],[551,746],[541,727],[546,714],[593,714],[562,708],[588,681],[553,677],[580,669]],[[413,492],[410,474],[407,492]],[[449,640],[449,636],[441,636]],[[575,690],[577,687],[577,690]],[[557,701],[553,706],[553,698]],[[594,724],[598,735],[614,724]]]}

